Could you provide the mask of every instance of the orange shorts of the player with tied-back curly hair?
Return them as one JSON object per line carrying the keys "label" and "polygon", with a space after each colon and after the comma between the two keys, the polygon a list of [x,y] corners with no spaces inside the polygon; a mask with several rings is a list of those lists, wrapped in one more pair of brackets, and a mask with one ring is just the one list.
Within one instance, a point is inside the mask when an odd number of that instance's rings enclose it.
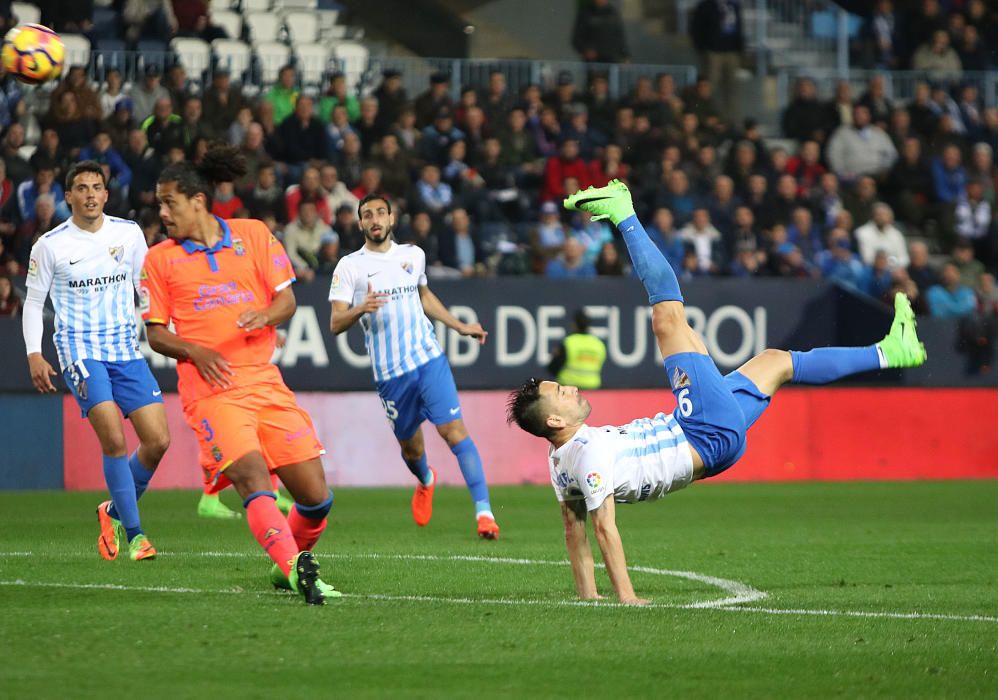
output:
{"label": "orange shorts of the player with tied-back curly hair", "polygon": [[184,418],[198,436],[212,493],[232,483],[225,469],[250,452],[263,453],[271,471],[325,453],[312,418],[284,384],[254,384],[200,399],[184,407]]}

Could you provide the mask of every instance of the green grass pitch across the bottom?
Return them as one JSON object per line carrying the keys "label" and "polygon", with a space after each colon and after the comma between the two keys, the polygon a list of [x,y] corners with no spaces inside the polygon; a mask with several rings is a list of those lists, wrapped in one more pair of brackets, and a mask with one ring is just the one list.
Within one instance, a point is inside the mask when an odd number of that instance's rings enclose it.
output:
{"label": "green grass pitch across the bottom", "polygon": [[[494,543],[474,536],[463,489],[437,490],[425,529],[411,522],[409,496],[337,491],[316,551],[323,577],[348,597],[311,608],[272,592],[269,561],[244,521],[198,520],[195,493],[143,498],[160,556],[141,563],[97,555],[96,494],[2,493],[0,581],[27,584],[0,585],[2,694],[998,694],[994,620],[559,605],[573,595],[567,565],[455,558],[564,560],[550,489],[493,489],[503,528]],[[619,507],[618,524],[631,566],[699,572],[768,594],[742,607],[995,618],[995,503],[998,481],[711,484]],[[659,604],[727,595],[675,576],[632,578]],[[605,572],[597,579],[610,593]],[[149,587],[196,592],[140,590]]]}

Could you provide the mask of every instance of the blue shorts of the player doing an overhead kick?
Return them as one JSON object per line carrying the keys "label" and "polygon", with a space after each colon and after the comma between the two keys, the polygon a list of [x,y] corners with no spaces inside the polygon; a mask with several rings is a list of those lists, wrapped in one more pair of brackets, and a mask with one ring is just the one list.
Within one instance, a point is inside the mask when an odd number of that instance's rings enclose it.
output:
{"label": "blue shorts of the player doing an overhead kick", "polygon": [[670,355],[665,370],[676,397],[672,415],[703,459],[705,475],[717,476],[745,452],[745,432],[770,397],[739,372],[722,377],[708,355]]}

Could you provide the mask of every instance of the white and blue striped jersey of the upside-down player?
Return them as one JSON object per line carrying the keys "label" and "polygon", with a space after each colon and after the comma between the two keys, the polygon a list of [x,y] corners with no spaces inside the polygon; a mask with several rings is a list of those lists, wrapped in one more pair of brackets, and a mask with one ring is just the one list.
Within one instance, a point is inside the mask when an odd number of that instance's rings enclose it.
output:
{"label": "white and blue striped jersey of the upside-down player", "polygon": [[551,485],[559,501],[585,500],[596,510],[609,496],[618,503],[662,498],[693,481],[693,455],[671,414],[627,425],[583,425],[548,451]]}

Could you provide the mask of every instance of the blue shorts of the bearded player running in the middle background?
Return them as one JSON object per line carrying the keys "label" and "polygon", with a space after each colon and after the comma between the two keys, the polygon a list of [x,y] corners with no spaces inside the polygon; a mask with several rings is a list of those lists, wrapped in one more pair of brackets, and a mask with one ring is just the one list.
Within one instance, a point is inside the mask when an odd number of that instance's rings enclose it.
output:
{"label": "blue shorts of the bearded player running in the middle background", "polygon": [[424,420],[443,425],[461,418],[454,375],[443,355],[401,377],[378,382],[378,396],[399,440],[408,440]]}

